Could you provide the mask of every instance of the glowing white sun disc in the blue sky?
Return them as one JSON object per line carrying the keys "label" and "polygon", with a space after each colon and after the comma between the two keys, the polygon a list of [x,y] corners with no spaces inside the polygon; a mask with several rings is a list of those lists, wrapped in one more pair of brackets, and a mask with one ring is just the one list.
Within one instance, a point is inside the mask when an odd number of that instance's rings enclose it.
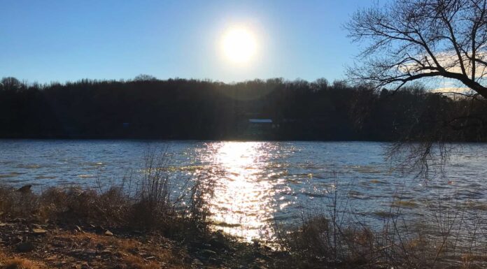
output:
{"label": "glowing white sun disc in the blue sky", "polygon": [[255,56],[257,41],[252,31],[236,27],[225,32],[222,47],[227,59],[235,63],[245,63]]}

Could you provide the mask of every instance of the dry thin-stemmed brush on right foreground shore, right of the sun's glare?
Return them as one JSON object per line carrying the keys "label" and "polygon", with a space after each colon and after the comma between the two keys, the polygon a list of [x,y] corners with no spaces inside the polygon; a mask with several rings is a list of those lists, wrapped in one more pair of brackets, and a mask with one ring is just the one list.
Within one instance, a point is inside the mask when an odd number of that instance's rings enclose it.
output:
{"label": "dry thin-stemmed brush on right foreground shore, right of the sun's glare", "polygon": [[281,248],[297,268],[487,268],[485,216],[438,201],[432,215],[407,221],[401,210],[416,203],[395,200],[382,226],[372,228],[339,197],[335,191],[330,208],[303,213],[294,226],[276,225]]}

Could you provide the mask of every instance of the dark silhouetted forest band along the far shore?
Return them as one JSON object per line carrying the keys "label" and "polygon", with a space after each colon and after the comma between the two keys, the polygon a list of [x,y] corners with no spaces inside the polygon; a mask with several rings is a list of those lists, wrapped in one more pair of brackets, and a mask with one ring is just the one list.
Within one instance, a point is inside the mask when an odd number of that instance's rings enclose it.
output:
{"label": "dark silhouetted forest band along the far shore", "polygon": [[485,140],[486,102],[344,81],[3,78],[1,138]]}

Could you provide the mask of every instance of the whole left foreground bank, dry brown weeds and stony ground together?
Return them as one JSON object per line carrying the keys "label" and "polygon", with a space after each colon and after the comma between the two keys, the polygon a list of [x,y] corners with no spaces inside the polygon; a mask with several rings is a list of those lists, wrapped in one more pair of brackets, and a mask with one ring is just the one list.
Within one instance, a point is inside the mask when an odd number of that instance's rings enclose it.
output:
{"label": "whole left foreground bank, dry brown weeds and stony ground together", "polygon": [[178,210],[150,191],[0,186],[0,269],[288,267],[284,252],[213,231],[203,191]]}

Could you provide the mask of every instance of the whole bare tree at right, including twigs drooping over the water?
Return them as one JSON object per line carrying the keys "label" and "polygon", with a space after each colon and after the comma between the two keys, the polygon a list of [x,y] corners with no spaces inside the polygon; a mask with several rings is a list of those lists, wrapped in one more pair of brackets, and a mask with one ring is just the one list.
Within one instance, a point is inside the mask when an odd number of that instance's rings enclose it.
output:
{"label": "whole bare tree at right, including twigs drooping over the water", "polygon": [[[472,102],[485,106],[486,8],[487,0],[394,0],[358,10],[345,27],[348,36],[363,47],[348,75],[374,89],[395,91],[409,82],[446,78],[461,82],[470,91],[460,94],[473,96]],[[393,161],[423,175],[428,175],[432,163],[443,167],[449,157],[446,143],[458,140],[459,132],[485,125],[484,117],[472,117],[470,110],[477,105],[465,106],[462,115],[449,115],[449,109],[438,107],[431,97],[425,110],[411,117],[423,125],[434,124],[432,131],[418,131],[421,124],[413,124],[389,149]],[[441,118],[432,118],[431,110],[444,112]]]}

